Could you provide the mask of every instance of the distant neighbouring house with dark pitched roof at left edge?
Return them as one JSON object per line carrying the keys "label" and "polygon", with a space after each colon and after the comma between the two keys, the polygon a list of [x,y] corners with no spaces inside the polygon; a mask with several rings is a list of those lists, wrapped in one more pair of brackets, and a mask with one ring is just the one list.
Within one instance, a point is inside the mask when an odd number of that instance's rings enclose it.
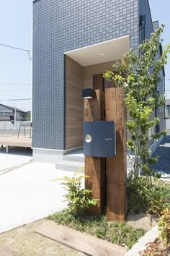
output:
{"label": "distant neighbouring house with dark pitched roof at left edge", "polygon": [[12,121],[16,112],[16,121],[25,121],[26,112],[19,108],[6,106],[0,103],[0,121]]}

